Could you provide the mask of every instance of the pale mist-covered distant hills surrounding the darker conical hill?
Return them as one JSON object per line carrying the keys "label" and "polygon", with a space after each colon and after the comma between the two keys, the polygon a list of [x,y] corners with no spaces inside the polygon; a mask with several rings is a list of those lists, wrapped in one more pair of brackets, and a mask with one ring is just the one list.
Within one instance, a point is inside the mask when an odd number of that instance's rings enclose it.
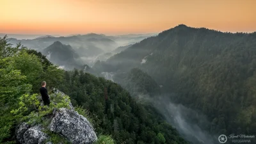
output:
{"label": "pale mist-covered distant hills surrounding the darker conical hill", "polygon": [[[4,36],[5,34],[3,34]],[[7,35],[8,41],[12,45],[21,44],[28,49],[35,49],[36,51],[42,52],[50,58],[51,52],[45,52],[45,49],[54,42],[61,42],[63,45],[70,45],[72,51],[75,52],[76,58],[72,63],[75,65],[89,65],[93,67],[96,61],[106,61],[111,56],[114,56],[118,52],[124,51],[127,46],[136,44],[144,38],[155,36],[157,34],[129,34],[129,35],[116,35],[108,36],[103,34],[88,33],[86,35],[68,35],[68,36],[58,36],[58,35]],[[21,37],[20,37],[21,36]],[[22,38],[24,36],[24,38]],[[60,50],[63,51],[63,50]],[[60,54],[63,54],[63,52]],[[52,56],[51,58],[58,57]],[[51,60],[50,60],[51,61]],[[74,62],[75,61],[75,62]],[[56,63],[56,60],[52,61],[56,65],[63,65],[63,63]],[[70,65],[70,63],[67,63]],[[73,64],[72,64],[73,65]],[[80,66],[79,66],[80,67]],[[79,68],[76,67],[76,68]],[[71,69],[74,67],[70,67]],[[66,70],[70,70],[66,67]]]}

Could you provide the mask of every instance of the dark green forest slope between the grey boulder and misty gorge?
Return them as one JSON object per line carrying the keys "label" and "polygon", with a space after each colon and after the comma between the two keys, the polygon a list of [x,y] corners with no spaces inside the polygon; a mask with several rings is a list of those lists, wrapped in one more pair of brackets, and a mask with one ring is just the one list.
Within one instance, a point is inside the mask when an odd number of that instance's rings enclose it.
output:
{"label": "dark green forest slope between the grey boulder and misty gorge", "polygon": [[[73,104],[89,111],[98,134],[111,134],[116,143],[160,143],[157,138],[160,131],[166,143],[186,143],[156,109],[136,102],[112,81],[74,70],[65,72],[60,90],[70,96]],[[78,108],[77,111],[84,115],[83,110]]]}

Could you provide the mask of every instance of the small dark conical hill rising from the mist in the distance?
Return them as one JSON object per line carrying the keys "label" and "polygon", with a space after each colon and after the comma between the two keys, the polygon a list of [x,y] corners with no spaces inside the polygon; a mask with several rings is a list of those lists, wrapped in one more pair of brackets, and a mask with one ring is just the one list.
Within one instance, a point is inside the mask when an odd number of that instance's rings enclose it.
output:
{"label": "small dark conical hill rising from the mist in the distance", "polygon": [[70,45],[63,45],[61,42],[54,42],[42,52],[54,64],[65,68],[79,67],[77,59],[78,54]]}

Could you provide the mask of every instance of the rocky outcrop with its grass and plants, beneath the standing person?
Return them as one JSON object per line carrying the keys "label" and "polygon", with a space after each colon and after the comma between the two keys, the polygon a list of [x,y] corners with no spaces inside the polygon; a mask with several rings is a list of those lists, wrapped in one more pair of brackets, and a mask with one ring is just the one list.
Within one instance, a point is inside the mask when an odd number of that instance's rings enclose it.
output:
{"label": "rocky outcrop with its grass and plants, beneath the standing person", "polygon": [[[33,97],[33,96],[31,96]],[[20,143],[87,143],[97,141],[92,124],[75,111],[69,97],[58,90],[51,93],[51,104],[45,107],[40,104],[40,97],[27,99],[21,102],[33,102],[38,111],[31,111],[28,118],[23,120],[16,129],[16,138]],[[24,108],[29,108],[26,103]],[[22,113],[19,110],[19,113]],[[36,115],[33,116],[33,115]],[[24,116],[26,117],[26,116]]]}

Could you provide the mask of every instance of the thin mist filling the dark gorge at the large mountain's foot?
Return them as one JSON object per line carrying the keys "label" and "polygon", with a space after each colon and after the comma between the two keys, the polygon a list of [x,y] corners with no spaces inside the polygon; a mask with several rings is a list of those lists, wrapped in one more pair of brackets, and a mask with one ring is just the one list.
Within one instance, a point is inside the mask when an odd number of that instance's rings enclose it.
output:
{"label": "thin mist filling the dark gorge at the large mountain's foot", "polygon": [[[192,143],[218,144],[218,136],[210,134],[199,125],[211,125],[206,116],[186,108],[182,104],[174,104],[168,97],[147,99],[161,113],[166,121],[175,127],[182,136]],[[193,122],[192,122],[193,120]]]}

